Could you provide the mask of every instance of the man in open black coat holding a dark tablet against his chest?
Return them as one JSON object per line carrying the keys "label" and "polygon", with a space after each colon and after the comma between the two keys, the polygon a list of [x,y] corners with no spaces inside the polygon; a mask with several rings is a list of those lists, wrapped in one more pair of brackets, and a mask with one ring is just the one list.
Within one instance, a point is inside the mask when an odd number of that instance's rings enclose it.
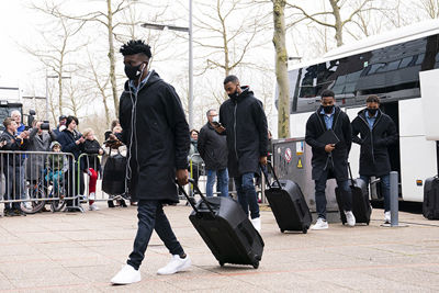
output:
{"label": "man in open black coat holding a dark tablet against his chest", "polygon": [[[344,194],[344,211],[347,224],[356,225],[352,214],[352,192],[348,181],[348,156],[352,144],[352,129],[348,115],[338,108],[331,90],[322,92],[322,105],[306,122],[305,140],[312,147],[312,177],[315,181],[315,200],[317,222],[312,229],[327,229],[326,222],[326,181],[329,178],[337,180],[338,188]],[[337,144],[324,142],[322,135],[334,131],[338,138]]]}

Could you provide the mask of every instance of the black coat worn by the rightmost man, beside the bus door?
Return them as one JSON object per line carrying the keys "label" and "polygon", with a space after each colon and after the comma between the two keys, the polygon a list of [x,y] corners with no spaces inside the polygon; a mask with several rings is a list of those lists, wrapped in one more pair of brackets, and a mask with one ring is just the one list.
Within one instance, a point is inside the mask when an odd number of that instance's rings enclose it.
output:
{"label": "black coat worn by the rightmost man, beside the bus door", "polygon": [[361,146],[360,174],[376,177],[389,174],[391,161],[387,147],[397,139],[395,123],[381,110],[378,111],[372,129],[365,119],[365,110],[358,112],[358,116],[352,121],[352,140]]}

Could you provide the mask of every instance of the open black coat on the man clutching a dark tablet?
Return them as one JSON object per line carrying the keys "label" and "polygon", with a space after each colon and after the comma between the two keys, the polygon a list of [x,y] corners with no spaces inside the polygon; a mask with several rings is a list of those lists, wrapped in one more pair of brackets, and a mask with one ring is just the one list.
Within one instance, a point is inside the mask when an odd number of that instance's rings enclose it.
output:
{"label": "open black coat on the man clutching a dark tablet", "polygon": [[313,180],[318,180],[325,168],[331,168],[337,180],[348,180],[348,155],[352,145],[352,128],[348,115],[340,108],[336,106],[335,109],[333,129],[340,142],[331,151],[331,156],[325,151],[325,144],[317,142],[317,138],[326,132],[325,119],[320,114],[322,106],[306,122],[305,140],[313,150],[311,161]]}

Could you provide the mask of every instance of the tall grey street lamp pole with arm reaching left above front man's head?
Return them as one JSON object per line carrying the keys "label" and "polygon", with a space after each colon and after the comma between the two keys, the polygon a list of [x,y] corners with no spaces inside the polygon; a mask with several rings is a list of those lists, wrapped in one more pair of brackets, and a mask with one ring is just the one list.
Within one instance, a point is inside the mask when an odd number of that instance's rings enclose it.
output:
{"label": "tall grey street lamp pole with arm reaching left above front man's head", "polygon": [[145,29],[164,31],[165,29],[178,32],[187,32],[189,34],[189,99],[188,99],[188,112],[189,112],[189,127],[193,126],[193,46],[192,46],[192,0],[189,0],[189,27],[156,24],[156,23],[143,23],[140,25]]}

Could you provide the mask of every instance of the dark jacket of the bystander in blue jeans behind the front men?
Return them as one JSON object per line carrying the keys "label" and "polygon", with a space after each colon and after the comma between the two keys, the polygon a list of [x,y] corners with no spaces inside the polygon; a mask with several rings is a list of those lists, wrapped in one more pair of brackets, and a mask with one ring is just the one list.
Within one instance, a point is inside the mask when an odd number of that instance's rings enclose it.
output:
{"label": "dark jacket of the bystander in blue jeans behind the front men", "polygon": [[227,138],[215,132],[209,122],[200,131],[198,147],[206,170],[227,168]]}

